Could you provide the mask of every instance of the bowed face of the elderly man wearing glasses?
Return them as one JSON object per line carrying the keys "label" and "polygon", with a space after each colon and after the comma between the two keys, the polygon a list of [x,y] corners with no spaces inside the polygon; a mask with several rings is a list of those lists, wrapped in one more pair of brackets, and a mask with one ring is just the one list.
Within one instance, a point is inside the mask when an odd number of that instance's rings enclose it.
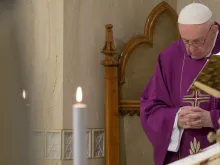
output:
{"label": "bowed face of the elderly man wearing glasses", "polygon": [[212,25],[208,23],[201,25],[179,24],[179,31],[187,53],[191,57],[201,59],[210,53],[214,43],[214,38],[210,38],[210,33],[213,31]]}

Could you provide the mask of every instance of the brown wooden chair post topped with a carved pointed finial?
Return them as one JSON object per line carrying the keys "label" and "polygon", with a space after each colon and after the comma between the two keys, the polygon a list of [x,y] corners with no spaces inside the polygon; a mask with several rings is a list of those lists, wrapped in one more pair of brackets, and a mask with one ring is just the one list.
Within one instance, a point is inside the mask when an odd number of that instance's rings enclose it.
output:
{"label": "brown wooden chair post topped with a carved pointed finial", "polygon": [[102,53],[105,59],[105,165],[119,165],[119,111],[118,111],[118,60],[112,25],[106,25],[106,40]]}

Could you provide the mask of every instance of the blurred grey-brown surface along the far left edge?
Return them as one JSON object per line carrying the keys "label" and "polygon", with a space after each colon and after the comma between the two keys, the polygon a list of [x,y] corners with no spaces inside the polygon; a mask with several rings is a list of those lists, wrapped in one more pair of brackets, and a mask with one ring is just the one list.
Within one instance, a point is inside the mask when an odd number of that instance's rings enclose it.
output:
{"label": "blurred grey-brown surface along the far left edge", "polygon": [[20,54],[13,1],[0,1],[0,162],[28,164],[28,109],[22,98]]}

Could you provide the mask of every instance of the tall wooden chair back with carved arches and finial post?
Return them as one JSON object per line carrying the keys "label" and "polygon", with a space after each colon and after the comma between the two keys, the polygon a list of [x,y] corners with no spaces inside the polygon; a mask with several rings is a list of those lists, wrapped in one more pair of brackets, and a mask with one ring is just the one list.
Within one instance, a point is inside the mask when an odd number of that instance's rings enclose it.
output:
{"label": "tall wooden chair back with carved arches and finial post", "polygon": [[152,76],[158,54],[179,37],[177,13],[166,2],[157,5],[146,21],[144,34],[130,39],[120,58],[115,56],[112,28],[106,25],[102,61],[106,87],[105,165],[141,165],[146,161],[150,165],[152,147],[140,126],[139,97]]}

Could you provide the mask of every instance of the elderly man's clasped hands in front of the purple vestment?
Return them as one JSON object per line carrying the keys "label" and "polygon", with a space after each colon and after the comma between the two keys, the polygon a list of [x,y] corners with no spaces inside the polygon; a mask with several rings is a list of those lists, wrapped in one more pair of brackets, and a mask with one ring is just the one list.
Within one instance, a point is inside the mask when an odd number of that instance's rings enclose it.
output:
{"label": "elderly man's clasped hands in front of the purple vestment", "polygon": [[199,107],[184,106],[178,114],[178,127],[183,129],[212,128],[210,112]]}

